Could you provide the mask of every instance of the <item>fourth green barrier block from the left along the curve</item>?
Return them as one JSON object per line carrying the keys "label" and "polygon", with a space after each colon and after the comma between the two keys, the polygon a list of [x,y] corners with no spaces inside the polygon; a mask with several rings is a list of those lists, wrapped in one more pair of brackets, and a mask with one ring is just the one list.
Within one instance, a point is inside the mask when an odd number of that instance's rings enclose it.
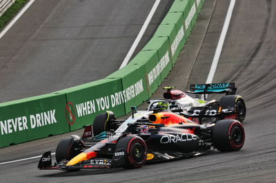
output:
{"label": "fourth green barrier block from the left along the curve", "polygon": [[128,64],[145,65],[148,97],[150,97],[161,85],[161,75],[158,72],[159,58],[157,50],[141,51]]}

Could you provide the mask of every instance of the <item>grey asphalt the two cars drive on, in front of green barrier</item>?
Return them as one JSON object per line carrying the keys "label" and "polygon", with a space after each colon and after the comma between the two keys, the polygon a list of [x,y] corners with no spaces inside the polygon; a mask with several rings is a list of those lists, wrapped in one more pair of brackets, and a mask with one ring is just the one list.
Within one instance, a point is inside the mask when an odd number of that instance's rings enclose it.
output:
{"label": "grey asphalt the two cars drive on, in front of green barrier", "polygon": [[[229,1],[208,0],[177,64],[161,85],[205,83]],[[141,169],[38,171],[37,159],[0,165],[1,182],[276,182],[276,3],[235,4],[214,82],[235,82],[247,106],[241,151],[211,153]],[[152,98],[160,98],[159,89]],[[213,96],[209,96],[211,99]],[[76,131],[81,134],[81,131]],[[1,162],[55,151],[63,134],[0,150]]]}

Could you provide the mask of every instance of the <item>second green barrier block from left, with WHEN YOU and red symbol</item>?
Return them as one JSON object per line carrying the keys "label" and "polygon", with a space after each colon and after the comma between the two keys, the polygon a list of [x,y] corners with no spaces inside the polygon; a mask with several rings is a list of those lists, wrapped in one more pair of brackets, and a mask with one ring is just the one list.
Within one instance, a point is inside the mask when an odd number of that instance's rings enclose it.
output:
{"label": "second green barrier block from left, with WHEN YOU and red symbol", "polygon": [[110,110],[124,116],[121,79],[101,79],[55,92],[66,94],[65,116],[70,131],[92,125],[97,114]]}

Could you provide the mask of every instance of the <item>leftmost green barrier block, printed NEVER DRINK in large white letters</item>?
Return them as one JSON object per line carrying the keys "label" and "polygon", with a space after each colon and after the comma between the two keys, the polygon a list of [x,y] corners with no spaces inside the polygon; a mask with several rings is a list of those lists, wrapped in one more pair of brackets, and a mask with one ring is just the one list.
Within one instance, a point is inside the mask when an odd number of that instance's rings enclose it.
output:
{"label": "leftmost green barrier block, printed NEVER DRINK in large white letters", "polygon": [[46,94],[0,104],[0,147],[69,132],[64,94]]}

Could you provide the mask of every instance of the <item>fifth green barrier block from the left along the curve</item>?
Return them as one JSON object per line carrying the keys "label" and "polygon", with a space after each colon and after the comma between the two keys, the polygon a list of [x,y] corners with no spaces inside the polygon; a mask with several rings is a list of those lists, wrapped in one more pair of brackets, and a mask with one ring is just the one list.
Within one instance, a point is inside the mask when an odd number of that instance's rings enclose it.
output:
{"label": "fifth green barrier block from the left along the curve", "polygon": [[[158,64],[155,66],[156,73],[161,76],[161,82],[172,69],[172,54],[168,37],[152,37],[144,46],[142,51],[157,50]],[[160,83],[161,84],[161,83]]]}

